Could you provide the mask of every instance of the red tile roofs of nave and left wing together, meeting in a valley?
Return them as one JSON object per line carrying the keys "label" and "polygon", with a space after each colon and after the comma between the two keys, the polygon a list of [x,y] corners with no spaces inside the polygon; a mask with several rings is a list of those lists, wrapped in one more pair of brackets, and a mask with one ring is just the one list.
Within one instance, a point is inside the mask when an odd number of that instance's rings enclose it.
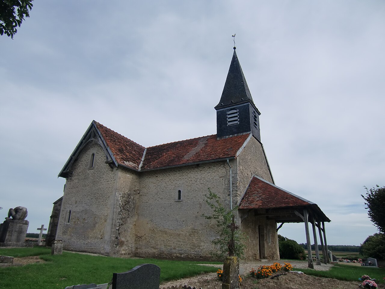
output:
{"label": "red tile roofs of nave and left wing together, meeting in a valley", "polygon": [[[94,121],[119,165],[134,170],[154,170],[169,166],[187,165],[235,157],[250,134],[217,139],[216,134],[160,144],[146,149],[131,139],[122,136]],[[140,166],[144,154],[142,166]]]}

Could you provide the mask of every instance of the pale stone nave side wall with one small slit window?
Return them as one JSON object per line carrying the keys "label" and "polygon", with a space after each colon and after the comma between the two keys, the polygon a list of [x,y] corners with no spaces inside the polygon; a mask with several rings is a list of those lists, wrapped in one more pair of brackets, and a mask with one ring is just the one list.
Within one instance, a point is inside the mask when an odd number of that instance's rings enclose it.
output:
{"label": "pale stone nave side wall with one small slit window", "polygon": [[[209,258],[216,236],[204,202],[208,187],[229,207],[229,167],[226,162],[182,166],[141,173],[136,255],[139,257]],[[177,200],[178,190],[181,199]]]}

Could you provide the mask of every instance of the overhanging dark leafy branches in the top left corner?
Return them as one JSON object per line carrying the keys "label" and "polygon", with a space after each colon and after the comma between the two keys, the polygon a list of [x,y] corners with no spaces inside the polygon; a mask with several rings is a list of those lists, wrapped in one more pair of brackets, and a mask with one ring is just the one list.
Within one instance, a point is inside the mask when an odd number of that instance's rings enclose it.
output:
{"label": "overhanging dark leafy branches in the top left corner", "polygon": [[0,35],[7,34],[11,38],[17,32],[24,17],[29,17],[33,0],[2,0],[0,1]]}

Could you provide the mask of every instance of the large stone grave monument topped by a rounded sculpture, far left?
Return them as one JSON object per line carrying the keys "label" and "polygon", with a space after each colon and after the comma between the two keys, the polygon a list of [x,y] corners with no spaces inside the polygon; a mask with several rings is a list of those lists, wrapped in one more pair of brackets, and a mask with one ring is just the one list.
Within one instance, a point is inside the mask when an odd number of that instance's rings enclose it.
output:
{"label": "large stone grave monument topped by a rounded sculpture, far left", "polygon": [[[10,218],[12,217],[12,218]],[[0,224],[0,247],[24,247],[25,235],[27,235],[29,222],[27,217],[27,208],[10,208],[8,217]]]}

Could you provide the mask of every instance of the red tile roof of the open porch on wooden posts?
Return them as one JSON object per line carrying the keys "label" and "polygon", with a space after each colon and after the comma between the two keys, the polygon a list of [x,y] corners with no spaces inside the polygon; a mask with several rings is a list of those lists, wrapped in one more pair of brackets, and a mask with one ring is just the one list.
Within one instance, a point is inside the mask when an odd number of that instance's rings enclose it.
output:
{"label": "red tile roof of the open porch on wooden posts", "polygon": [[279,188],[266,180],[253,176],[238,208],[283,208],[313,204],[314,203]]}

